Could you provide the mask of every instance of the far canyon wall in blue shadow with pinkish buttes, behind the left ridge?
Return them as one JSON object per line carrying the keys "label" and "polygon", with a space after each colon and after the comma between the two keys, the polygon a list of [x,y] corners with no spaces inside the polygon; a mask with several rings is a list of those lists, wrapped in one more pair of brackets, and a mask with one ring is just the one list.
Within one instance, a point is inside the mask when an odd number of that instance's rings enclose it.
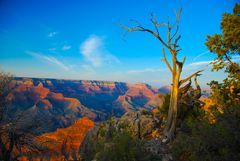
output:
{"label": "far canyon wall in blue shadow with pinkish buttes, behind the left ridge", "polygon": [[[16,78],[18,84],[30,84],[38,88],[49,89],[53,93],[62,94],[63,97],[75,98],[81,105],[99,111],[97,119],[104,119],[104,114],[121,116],[126,111],[146,108],[151,110],[161,103],[158,97],[158,89],[144,83],[128,84],[111,81],[89,81],[89,80],[57,80],[57,79],[36,79]],[[54,97],[55,104],[63,100]],[[59,96],[60,97],[60,96]],[[54,100],[57,100],[54,101]],[[66,101],[66,99],[64,99]],[[73,101],[73,100],[72,100]],[[65,103],[67,104],[67,103]],[[75,102],[76,104],[76,102]],[[61,105],[59,105],[61,106]],[[72,108],[74,104],[69,105]]]}

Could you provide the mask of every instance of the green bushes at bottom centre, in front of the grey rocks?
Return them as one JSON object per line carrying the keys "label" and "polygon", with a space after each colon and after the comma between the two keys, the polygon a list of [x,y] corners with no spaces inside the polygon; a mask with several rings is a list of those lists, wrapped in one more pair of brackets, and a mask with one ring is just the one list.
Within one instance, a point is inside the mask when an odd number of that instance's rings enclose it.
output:
{"label": "green bushes at bottom centre, in front of the grey rocks", "polygon": [[116,119],[101,123],[80,148],[84,161],[157,161],[159,156],[147,152],[145,141],[131,133],[127,126],[117,128]]}

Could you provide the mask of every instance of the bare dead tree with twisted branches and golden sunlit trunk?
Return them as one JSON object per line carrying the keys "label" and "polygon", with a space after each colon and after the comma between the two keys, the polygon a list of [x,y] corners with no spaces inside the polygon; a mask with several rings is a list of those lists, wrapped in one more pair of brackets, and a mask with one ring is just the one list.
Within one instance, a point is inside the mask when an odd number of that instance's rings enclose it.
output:
{"label": "bare dead tree with twisted branches and golden sunlit trunk", "polygon": [[[187,92],[186,89],[189,84],[186,84],[188,81],[191,80],[192,77],[196,76],[198,73],[202,72],[199,70],[190,76],[180,79],[183,65],[186,61],[186,57],[182,61],[178,60],[177,55],[181,51],[181,48],[178,45],[178,41],[181,38],[179,35],[179,22],[180,22],[180,15],[182,12],[182,8],[180,8],[179,12],[176,12],[176,21],[171,24],[170,21],[167,19],[167,23],[159,23],[156,19],[156,16],[151,15],[150,21],[154,26],[154,30],[148,29],[143,27],[138,21],[132,19],[136,26],[128,27],[121,25],[128,32],[146,32],[153,35],[162,45],[162,54],[163,54],[163,61],[167,65],[168,69],[172,74],[172,88],[171,88],[171,98],[170,98],[170,105],[168,110],[168,117],[167,123],[164,128],[164,136],[163,142],[171,141],[174,138],[176,124],[177,124],[177,115],[178,115],[178,108],[179,108],[179,94],[183,92]],[[167,35],[166,40],[162,38],[159,32],[160,27],[167,27]],[[172,32],[174,30],[174,32]],[[166,54],[165,49],[169,51],[171,54],[172,63],[170,64]],[[186,84],[186,85],[185,85]]]}

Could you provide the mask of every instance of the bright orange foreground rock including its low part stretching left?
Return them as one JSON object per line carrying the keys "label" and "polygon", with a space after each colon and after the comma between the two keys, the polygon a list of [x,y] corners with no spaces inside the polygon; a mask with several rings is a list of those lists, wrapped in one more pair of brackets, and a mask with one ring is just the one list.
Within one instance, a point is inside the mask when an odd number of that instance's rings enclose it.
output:
{"label": "bright orange foreground rock including its low part stretching left", "polygon": [[[79,147],[86,134],[94,127],[94,122],[83,117],[67,128],[58,128],[53,132],[36,137],[36,141],[44,145],[46,151],[37,151],[33,156],[18,158],[20,161],[39,160],[80,160]],[[27,151],[27,150],[26,150]],[[28,154],[25,154],[28,156]]]}

